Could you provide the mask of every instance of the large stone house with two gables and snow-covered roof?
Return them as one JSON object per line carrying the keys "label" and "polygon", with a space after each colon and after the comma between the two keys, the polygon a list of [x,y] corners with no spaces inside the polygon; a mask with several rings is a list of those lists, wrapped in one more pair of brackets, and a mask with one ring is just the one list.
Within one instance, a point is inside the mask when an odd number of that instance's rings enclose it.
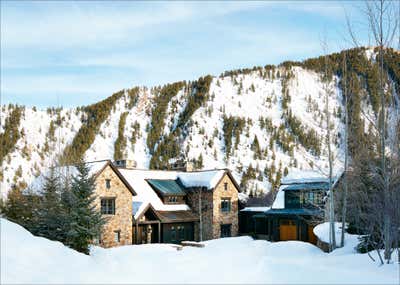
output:
{"label": "large stone house with two gables and snow-covered roof", "polygon": [[[88,162],[95,205],[106,218],[103,247],[203,241],[238,234],[239,186],[228,169],[135,169],[128,161]],[[65,176],[76,171],[63,167]]]}

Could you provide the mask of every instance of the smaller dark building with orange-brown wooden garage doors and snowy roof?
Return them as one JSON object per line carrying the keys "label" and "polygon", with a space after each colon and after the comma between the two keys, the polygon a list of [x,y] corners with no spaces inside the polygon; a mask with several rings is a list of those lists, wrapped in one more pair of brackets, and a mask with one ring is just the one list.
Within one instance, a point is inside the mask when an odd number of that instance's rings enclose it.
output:
{"label": "smaller dark building with orange-brown wooden garage doors and snowy roof", "polygon": [[[338,178],[332,183],[335,187]],[[314,226],[325,217],[329,179],[315,172],[296,172],[281,181],[271,209],[253,215],[256,236],[270,241],[317,243]]]}

